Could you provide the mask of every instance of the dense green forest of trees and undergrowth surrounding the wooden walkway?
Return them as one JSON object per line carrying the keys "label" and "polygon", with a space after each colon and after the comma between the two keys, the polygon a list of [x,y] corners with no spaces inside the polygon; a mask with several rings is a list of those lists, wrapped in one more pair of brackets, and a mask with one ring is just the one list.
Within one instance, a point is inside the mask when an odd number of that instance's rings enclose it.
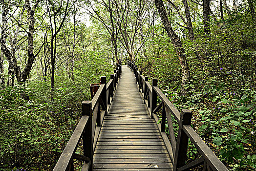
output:
{"label": "dense green forest of trees and undergrowth surrounding the wooden walkway", "polygon": [[[136,59],[178,110],[192,110],[193,128],[227,168],[256,170],[256,0],[0,8],[0,171],[52,170],[89,85],[109,79],[118,59]],[[188,158],[196,153],[190,145]]]}

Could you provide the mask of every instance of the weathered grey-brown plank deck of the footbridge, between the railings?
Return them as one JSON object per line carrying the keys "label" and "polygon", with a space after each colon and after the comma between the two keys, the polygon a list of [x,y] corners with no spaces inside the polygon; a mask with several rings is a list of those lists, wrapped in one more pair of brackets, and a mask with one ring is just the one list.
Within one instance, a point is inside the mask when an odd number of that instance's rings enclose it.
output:
{"label": "weathered grey-brown plank deck of the footbridge, between the railings", "polygon": [[122,69],[94,151],[94,171],[171,171],[167,148],[133,73],[127,66]]}

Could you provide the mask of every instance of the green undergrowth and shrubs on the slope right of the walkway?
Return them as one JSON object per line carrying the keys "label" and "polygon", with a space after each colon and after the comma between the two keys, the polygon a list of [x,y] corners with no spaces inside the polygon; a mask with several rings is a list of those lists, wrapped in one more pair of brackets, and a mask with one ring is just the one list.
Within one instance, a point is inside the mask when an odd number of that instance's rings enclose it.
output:
{"label": "green undergrowth and shrubs on the slope right of the walkway", "polygon": [[[255,29],[243,17],[237,15],[222,27],[212,23],[208,38],[195,29],[205,61],[196,57],[195,43],[183,40],[191,68],[186,96],[180,93],[181,66],[175,51],[163,48],[159,56],[137,63],[149,80],[158,78],[158,86],[175,107],[192,110],[194,129],[231,170],[256,169]],[[188,158],[198,157],[196,153],[189,144]]]}

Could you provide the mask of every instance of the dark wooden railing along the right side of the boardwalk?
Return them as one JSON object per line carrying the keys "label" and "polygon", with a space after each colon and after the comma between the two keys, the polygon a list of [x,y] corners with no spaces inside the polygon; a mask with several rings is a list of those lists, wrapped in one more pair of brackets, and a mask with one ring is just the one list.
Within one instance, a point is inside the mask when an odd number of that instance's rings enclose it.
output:
{"label": "dark wooden railing along the right side of the boardwalk", "polygon": [[[200,165],[203,165],[204,171],[228,171],[225,165],[223,165],[213,151],[191,127],[192,112],[190,110],[183,109],[180,113],[164,93],[157,87],[157,79],[153,79],[151,86],[149,84],[149,78],[142,75],[142,71],[138,70],[135,63],[128,60],[128,66],[135,75],[139,91],[144,97],[144,103],[149,109],[151,119],[154,119],[156,123],[159,123],[159,118],[156,115],[156,112],[162,108],[161,124],[157,124],[157,126],[161,131],[162,138],[171,157],[173,171],[189,170]],[[157,96],[161,99],[159,104],[157,104]],[[173,115],[179,123],[177,141],[174,134],[171,115]],[[166,120],[168,123],[171,143],[165,133]],[[186,163],[189,139],[202,156],[190,163]]]}

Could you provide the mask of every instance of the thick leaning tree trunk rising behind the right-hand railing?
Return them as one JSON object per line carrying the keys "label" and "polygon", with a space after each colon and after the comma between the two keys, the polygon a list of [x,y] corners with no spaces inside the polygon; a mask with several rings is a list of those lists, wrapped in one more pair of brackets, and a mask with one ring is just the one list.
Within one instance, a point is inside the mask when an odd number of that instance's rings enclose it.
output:
{"label": "thick leaning tree trunk rising behind the right-hand railing", "polygon": [[155,6],[156,6],[158,13],[161,17],[161,20],[165,26],[167,34],[170,37],[171,42],[176,50],[177,56],[179,57],[181,70],[182,70],[181,93],[185,94],[186,93],[185,85],[190,80],[190,70],[189,70],[187,57],[185,55],[185,50],[182,47],[182,43],[181,43],[179,37],[177,36],[177,34],[173,31],[173,29],[171,27],[171,23],[168,19],[168,15],[167,15],[163,0],[155,0]]}

